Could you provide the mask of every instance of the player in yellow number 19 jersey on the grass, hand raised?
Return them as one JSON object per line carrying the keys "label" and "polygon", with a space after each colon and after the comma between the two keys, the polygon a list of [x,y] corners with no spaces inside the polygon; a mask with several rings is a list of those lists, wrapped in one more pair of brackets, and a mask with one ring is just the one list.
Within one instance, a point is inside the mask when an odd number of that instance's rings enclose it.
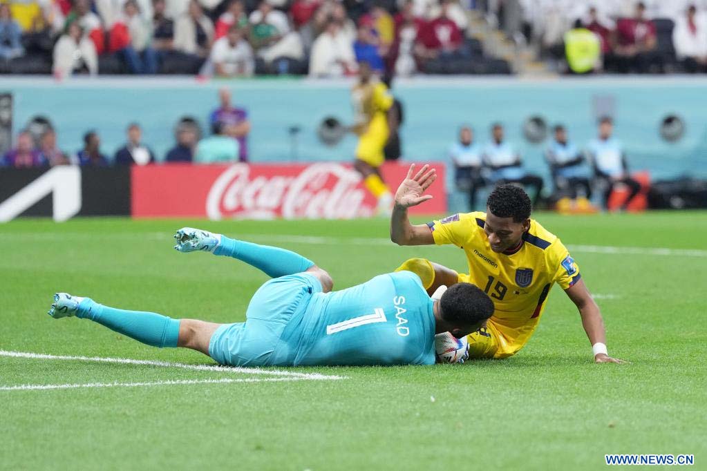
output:
{"label": "player in yellow number 19 jersey on the grass, hand raised", "polygon": [[491,296],[495,311],[485,328],[468,336],[469,357],[506,358],[518,352],[530,339],[547,295],[557,283],[579,309],[595,362],[623,362],[607,354],[599,306],[560,239],[530,219],[531,203],[525,191],[501,185],[489,195],[486,213],[455,214],[411,225],[407,208],[432,198],[423,193],[436,179],[428,165],[416,174],[414,167],[395,194],[390,238],[399,245],[454,244],[464,250],[468,275],[423,258],[412,258],[399,269],[420,275],[428,292],[440,285],[471,282]]}

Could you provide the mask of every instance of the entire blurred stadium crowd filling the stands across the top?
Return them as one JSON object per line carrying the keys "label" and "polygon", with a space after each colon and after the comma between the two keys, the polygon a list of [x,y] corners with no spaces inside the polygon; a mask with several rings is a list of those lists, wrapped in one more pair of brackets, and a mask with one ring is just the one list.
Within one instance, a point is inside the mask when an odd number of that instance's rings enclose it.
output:
{"label": "entire blurred stadium crowd filling the stands across the top", "polygon": [[575,73],[695,72],[706,16],[706,0],[12,0],[0,73],[498,74],[522,73],[523,53]]}

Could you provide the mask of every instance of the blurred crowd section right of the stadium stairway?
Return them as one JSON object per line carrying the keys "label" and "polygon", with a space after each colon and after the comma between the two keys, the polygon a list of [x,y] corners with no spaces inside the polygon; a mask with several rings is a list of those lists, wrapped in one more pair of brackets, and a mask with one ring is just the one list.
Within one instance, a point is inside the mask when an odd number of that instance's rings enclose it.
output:
{"label": "blurred crowd section right of the stadium stairway", "polygon": [[503,28],[568,71],[707,72],[707,1],[499,1]]}

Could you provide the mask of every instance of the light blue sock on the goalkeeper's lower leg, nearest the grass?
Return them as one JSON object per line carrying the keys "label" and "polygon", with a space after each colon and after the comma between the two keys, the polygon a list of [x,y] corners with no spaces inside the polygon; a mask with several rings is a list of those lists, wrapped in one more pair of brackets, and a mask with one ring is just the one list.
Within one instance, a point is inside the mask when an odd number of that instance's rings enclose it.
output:
{"label": "light blue sock on the goalkeeper's lower leg, nearest the grass", "polygon": [[115,309],[98,304],[93,299],[86,298],[78,304],[76,317],[98,322],[153,347],[176,347],[179,338],[179,319],[154,312]]}

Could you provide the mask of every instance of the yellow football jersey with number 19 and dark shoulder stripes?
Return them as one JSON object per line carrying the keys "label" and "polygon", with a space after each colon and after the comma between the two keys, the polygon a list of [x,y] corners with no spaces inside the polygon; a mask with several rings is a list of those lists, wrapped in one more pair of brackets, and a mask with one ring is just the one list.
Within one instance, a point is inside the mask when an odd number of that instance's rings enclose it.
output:
{"label": "yellow football jersey with number 19 and dark shoulder stripes", "polygon": [[542,316],[550,288],[563,290],[580,280],[579,268],[560,239],[536,220],[523,234],[523,243],[513,254],[496,254],[484,233],[486,213],[455,214],[429,222],[435,243],[464,249],[471,282],[489,294],[496,310],[487,323],[498,348],[495,358],[510,357],[530,338]]}

